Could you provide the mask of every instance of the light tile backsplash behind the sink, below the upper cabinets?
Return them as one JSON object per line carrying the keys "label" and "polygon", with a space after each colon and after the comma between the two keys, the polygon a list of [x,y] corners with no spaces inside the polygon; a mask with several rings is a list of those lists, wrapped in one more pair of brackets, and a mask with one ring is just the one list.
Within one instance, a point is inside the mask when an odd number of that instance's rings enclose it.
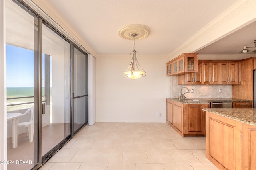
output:
{"label": "light tile backsplash behind the sink, below the upper cabinets", "polygon": [[[178,98],[184,86],[189,90],[194,89],[193,93],[184,94],[186,98],[232,98],[232,85],[178,85],[178,76],[170,77],[170,97]],[[185,89],[182,89],[182,93],[185,93]]]}

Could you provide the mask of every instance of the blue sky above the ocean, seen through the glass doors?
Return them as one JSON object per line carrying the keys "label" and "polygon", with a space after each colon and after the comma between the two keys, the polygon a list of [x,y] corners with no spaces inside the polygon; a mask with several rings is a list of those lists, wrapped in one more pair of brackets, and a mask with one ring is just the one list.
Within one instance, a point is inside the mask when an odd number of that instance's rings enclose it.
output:
{"label": "blue sky above the ocean, seen through the glass doors", "polygon": [[6,87],[34,87],[34,51],[6,45]]}

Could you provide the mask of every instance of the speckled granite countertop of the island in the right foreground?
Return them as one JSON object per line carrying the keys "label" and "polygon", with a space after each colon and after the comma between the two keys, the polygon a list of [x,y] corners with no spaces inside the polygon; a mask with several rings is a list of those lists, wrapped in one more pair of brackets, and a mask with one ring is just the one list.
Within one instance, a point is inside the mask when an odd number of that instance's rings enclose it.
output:
{"label": "speckled granite countertop of the island in the right foreground", "polygon": [[202,109],[216,115],[256,126],[256,109]]}

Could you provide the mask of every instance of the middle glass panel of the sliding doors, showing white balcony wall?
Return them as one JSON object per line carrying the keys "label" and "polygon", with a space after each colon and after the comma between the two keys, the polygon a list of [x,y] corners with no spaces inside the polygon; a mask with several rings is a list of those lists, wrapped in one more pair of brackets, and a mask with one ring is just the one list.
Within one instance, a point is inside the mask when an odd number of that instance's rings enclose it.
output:
{"label": "middle glass panel of the sliding doors, showing white balcony wall", "polygon": [[70,135],[70,43],[42,24],[42,153]]}

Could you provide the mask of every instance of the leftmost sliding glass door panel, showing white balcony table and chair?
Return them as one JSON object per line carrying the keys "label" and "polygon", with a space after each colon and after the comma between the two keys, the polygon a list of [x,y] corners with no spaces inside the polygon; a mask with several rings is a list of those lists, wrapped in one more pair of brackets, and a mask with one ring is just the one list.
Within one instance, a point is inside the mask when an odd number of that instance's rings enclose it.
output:
{"label": "leftmost sliding glass door panel, showing white balcony table and chair", "polygon": [[6,0],[8,170],[38,166],[39,18]]}

